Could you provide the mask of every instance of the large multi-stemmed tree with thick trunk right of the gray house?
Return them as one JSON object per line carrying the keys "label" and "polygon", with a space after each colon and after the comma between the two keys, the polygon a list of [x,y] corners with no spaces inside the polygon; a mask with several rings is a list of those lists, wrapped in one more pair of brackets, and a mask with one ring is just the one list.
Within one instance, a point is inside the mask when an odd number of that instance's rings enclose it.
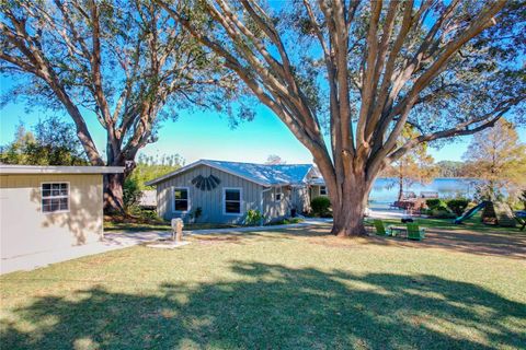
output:
{"label": "large multi-stemmed tree with thick trunk right of the gray house", "polygon": [[[390,162],[491,127],[525,96],[523,2],[157,1],[312,153],[341,236],[365,232]],[[419,136],[399,145],[407,125]]]}

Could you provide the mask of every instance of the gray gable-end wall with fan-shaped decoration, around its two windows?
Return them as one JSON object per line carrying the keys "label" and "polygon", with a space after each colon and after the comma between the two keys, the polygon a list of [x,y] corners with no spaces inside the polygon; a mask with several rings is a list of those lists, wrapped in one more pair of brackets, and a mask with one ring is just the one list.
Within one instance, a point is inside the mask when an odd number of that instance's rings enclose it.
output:
{"label": "gray gable-end wall with fan-shaped decoration, around its two windows", "polygon": [[[192,184],[192,179],[198,175],[207,177],[215,175],[221,183],[211,190],[201,190]],[[187,187],[190,197],[190,208],[187,212],[175,212],[173,210],[173,189],[175,187]],[[238,187],[242,190],[241,214],[224,214],[224,188]],[[190,213],[201,207],[203,210],[199,222],[215,223],[241,223],[244,220],[247,211],[250,209],[260,210],[262,186],[245,180],[219,170],[199,165],[187,172],[178,174],[157,185],[157,210],[158,214],[165,219],[182,218],[187,221]]]}

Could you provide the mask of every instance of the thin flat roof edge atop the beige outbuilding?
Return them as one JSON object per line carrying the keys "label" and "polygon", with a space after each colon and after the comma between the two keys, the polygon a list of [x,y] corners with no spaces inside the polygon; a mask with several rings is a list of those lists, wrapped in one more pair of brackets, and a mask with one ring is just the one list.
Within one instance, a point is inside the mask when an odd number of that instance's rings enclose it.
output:
{"label": "thin flat roof edge atop the beige outbuilding", "polygon": [[13,174],[119,174],[122,166],[55,166],[0,164],[0,175]]}

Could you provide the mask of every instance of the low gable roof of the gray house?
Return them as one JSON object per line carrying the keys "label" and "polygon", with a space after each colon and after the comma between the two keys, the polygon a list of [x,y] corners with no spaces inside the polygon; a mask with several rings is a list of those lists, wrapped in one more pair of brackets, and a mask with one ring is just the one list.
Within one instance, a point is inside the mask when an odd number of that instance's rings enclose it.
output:
{"label": "low gable roof of the gray house", "polygon": [[249,182],[261,186],[277,186],[277,185],[299,185],[306,183],[306,177],[312,168],[312,164],[255,164],[255,163],[240,163],[226,161],[201,160],[195,163],[183,166],[172,173],[147,182],[146,185],[157,185],[163,180],[184,173],[198,165],[207,165],[225,173],[239,176]]}

